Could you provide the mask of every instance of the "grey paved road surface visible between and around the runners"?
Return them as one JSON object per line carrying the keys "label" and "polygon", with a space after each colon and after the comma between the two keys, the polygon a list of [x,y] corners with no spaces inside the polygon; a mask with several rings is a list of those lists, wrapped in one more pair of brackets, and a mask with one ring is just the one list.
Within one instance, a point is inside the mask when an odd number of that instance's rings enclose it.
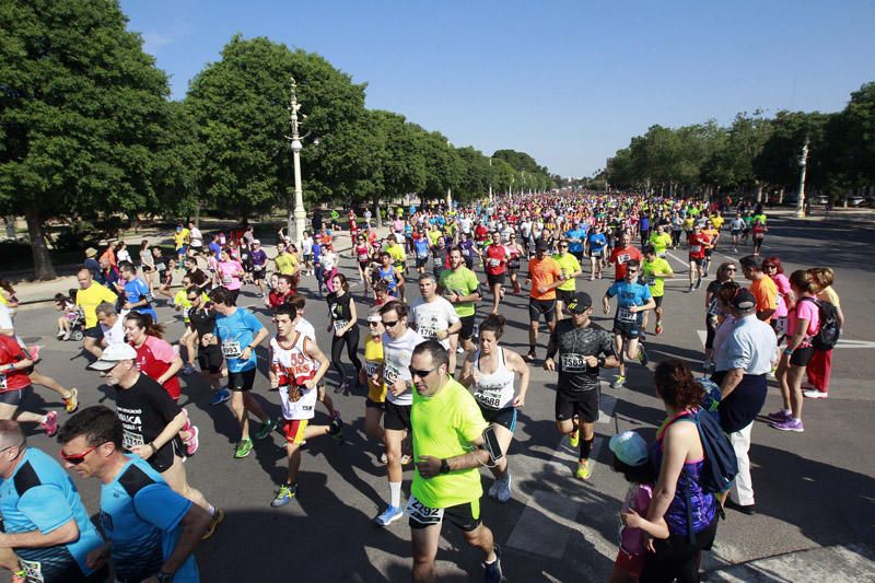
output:
{"label": "grey paved road surface visible between and around the runners", "polygon": [[[750,457],[759,513],[748,517],[730,512],[720,525],[713,552],[704,561],[708,570],[875,538],[875,457],[868,443],[872,431],[867,429],[875,412],[872,226],[865,217],[835,219],[827,224],[789,218],[770,220],[765,250],[779,254],[789,269],[821,264],[836,267],[836,287],[842,296],[848,327],[843,347],[835,358],[830,398],[806,403],[806,432],[781,433],[765,423],[756,424]],[[666,329],[661,337],[651,338],[648,346],[653,361],[676,357],[698,366],[704,289],[685,293],[685,268],[676,257],[682,258],[682,252],[673,253],[672,265],[679,277],[667,283]],[[724,258],[722,252],[718,258]],[[349,259],[343,260],[343,267],[349,272]],[[598,298],[607,282],[585,281],[579,288]],[[412,284],[407,291],[408,298],[416,296]],[[317,330],[323,330],[327,323],[325,303],[308,291],[307,294],[306,315]],[[503,342],[524,352],[526,300],[513,295],[505,300],[502,313],[510,324]],[[258,305],[260,301],[244,293],[241,303]],[[174,313],[161,307],[159,314],[170,322],[170,338],[178,338],[183,326],[172,319]],[[20,334],[45,345],[40,370],[80,387],[83,405],[102,403],[112,407],[110,393],[101,386],[96,374],[84,371],[85,360],[77,347],[51,338],[55,317],[56,313],[46,307],[24,311],[18,317]],[[259,317],[268,323],[264,314]],[[544,342],[546,336],[541,335]],[[541,347],[539,355],[542,354]],[[259,355],[265,358],[266,352],[259,351]],[[265,361],[260,364],[264,370]],[[652,363],[650,369],[653,366]],[[606,465],[609,452],[605,440],[627,429],[641,429],[651,438],[664,417],[650,371],[637,365],[630,371],[626,388],[603,392],[603,415],[596,425],[597,464],[586,483],[572,478],[575,453],[560,441],[553,427],[555,375],[540,369],[533,371],[532,389],[510,454],[513,499],[503,505],[486,498],[482,503],[485,521],[504,548],[509,581],[607,579],[616,555],[617,515],[626,485]],[[386,529],[370,523],[382,510],[388,492],[378,460],[381,448],[369,442],[362,431],[363,395],[332,395],[343,418],[351,422],[347,443],[338,446],[327,438],[312,440],[304,453],[299,501],[273,510],[268,503],[275,485],[285,473],[280,434],[257,442],[248,458],[232,459],[236,435],[230,409],[210,407],[208,388],[197,377],[184,377],[184,385],[183,403],[201,428],[201,448],[186,465],[190,481],[228,513],[217,535],[198,549],[205,581],[269,582],[288,580],[290,575],[299,581],[409,578],[410,533],[406,522]],[[331,373],[329,392],[334,386]],[[279,413],[278,396],[267,392],[264,376],[256,392],[275,415]],[[52,395],[40,395],[48,401],[45,405],[59,406]],[[780,397],[773,389],[766,408],[774,410],[779,405]],[[57,444],[44,435],[33,436],[31,443],[57,454]],[[410,471],[405,477],[409,480]],[[483,474],[483,483],[488,488],[491,476]],[[88,508],[95,511],[97,485],[79,486]],[[405,491],[408,488],[406,483]],[[450,526],[444,529],[438,558],[442,580],[481,576],[479,553],[469,549]],[[871,561],[864,563],[871,565]],[[778,564],[780,570],[780,561]]]}

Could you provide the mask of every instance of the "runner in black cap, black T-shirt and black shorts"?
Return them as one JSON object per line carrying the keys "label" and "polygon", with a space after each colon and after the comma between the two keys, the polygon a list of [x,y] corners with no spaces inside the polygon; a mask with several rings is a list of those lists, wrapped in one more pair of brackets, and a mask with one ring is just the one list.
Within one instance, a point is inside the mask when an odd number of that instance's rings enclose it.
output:
{"label": "runner in black cap, black T-shirt and black shorts", "polygon": [[[628,271],[627,271],[628,273]],[[615,283],[616,285],[616,283]],[[615,355],[610,333],[593,323],[593,300],[586,292],[578,292],[568,305],[571,318],[560,322],[550,335],[546,371],[558,371],[556,389],[556,427],[568,435],[569,445],[580,445],[575,476],[590,479],[593,468],[590,454],[595,439],[594,423],[598,419],[600,369],[620,365]],[[557,359],[558,354],[558,359]],[[557,366],[558,364],[558,366]],[[583,429],[583,441],[581,441]]]}

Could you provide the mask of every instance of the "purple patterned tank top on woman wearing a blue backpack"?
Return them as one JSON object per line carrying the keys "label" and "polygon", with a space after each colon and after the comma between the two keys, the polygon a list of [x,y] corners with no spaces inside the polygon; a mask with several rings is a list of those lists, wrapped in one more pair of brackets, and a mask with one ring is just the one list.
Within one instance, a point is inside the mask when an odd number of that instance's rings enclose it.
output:
{"label": "purple patterned tank top on woman wearing a blue backpack", "polygon": [[[686,418],[692,417],[693,411],[684,411],[682,413],[666,419],[660,432],[656,434],[656,440],[651,447],[651,462],[656,468],[658,474],[663,463],[663,435],[666,428],[675,421],[682,421]],[[687,500],[689,500],[692,510],[692,532],[700,533],[704,530],[708,525],[714,520],[716,512],[716,500],[714,494],[704,492],[700,485],[700,477],[704,468],[704,459],[696,462],[685,462],[684,470],[677,480],[677,488],[675,489],[675,498],[668,505],[668,511],[665,513],[665,522],[668,525],[668,532],[673,535],[688,535],[690,533],[689,513],[687,511]]]}

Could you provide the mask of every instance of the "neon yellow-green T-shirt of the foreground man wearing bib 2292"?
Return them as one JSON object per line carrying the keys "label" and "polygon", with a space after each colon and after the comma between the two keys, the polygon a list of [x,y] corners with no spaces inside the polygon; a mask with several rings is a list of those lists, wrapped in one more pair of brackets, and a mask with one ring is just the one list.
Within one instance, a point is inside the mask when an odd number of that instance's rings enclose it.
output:
{"label": "neon yellow-green T-shirt of the foreground man wearing bib 2292", "polygon": [[[415,459],[421,455],[440,459],[464,455],[487,424],[474,396],[453,378],[448,378],[433,397],[422,397],[413,390],[410,425]],[[478,468],[440,474],[428,480],[417,470],[410,491],[433,509],[472,502],[483,495]]]}

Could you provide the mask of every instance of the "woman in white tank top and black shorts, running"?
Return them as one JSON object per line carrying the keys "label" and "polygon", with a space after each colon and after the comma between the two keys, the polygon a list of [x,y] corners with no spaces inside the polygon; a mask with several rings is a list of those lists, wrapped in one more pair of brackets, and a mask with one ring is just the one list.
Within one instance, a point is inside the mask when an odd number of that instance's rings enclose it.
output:
{"label": "woman in white tank top and black shorts, running", "polygon": [[[516,429],[516,410],[524,407],[528,392],[528,365],[523,357],[512,350],[499,347],[504,333],[504,316],[490,314],[480,326],[480,349],[470,353],[462,366],[459,383],[466,388],[474,387],[474,398],[480,407],[483,419],[495,431],[503,457],[490,466],[495,481],[489,495],[499,502],[511,499],[511,471],[508,468],[508,448]],[[520,377],[520,392],[514,390]]]}

